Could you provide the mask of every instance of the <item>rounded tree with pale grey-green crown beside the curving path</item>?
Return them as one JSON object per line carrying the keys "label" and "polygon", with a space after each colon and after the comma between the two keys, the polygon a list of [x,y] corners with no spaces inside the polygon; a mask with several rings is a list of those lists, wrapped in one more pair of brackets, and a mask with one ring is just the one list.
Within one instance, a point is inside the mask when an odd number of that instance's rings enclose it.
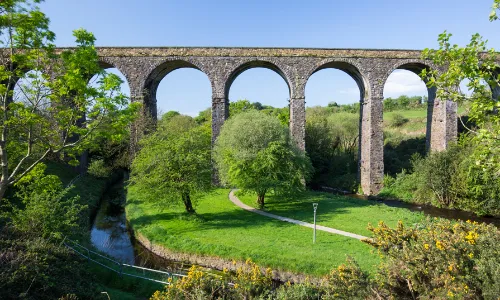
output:
{"label": "rounded tree with pale grey-green crown beside the curving path", "polygon": [[268,191],[300,191],[311,163],[290,140],[280,121],[259,111],[240,113],[226,121],[214,147],[223,183],[257,193],[264,207]]}

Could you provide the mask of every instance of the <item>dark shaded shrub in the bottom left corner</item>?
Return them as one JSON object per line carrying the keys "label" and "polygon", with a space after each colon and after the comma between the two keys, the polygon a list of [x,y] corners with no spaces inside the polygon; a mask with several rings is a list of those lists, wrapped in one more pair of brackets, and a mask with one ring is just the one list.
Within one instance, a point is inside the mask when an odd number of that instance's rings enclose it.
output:
{"label": "dark shaded shrub in the bottom left corner", "polygon": [[85,261],[53,238],[4,227],[0,259],[2,299],[58,299],[68,293],[92,299],[98,294],[93,274],[82,267]]}

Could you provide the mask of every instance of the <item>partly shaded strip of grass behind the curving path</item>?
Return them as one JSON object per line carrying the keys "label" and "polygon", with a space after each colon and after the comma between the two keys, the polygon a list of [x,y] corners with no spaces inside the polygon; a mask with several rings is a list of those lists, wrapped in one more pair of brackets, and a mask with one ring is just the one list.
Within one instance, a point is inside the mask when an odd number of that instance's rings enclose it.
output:
{"label": "partly shaded strip of grass behind the curving path", "polygon": [[[255,195],[237,193],[237,196],[245,204],[257,207]],[[408,209],[321,192],[308,191],[291,199],[267,196],[265,201],[267,212],[310,223],[313,222],[312,203],[316,202],[317,224],[364,236],[371,236],[368,223],[376,226],[379,221],[384,221],[395,227],[399,220],[404,224],[414,224],[425,218],[422,213]]]}

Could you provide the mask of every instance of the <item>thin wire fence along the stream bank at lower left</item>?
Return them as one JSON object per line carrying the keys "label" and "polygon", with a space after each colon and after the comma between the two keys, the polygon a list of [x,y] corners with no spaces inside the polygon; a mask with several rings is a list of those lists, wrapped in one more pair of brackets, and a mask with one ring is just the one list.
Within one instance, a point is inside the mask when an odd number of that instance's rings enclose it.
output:
{"label": "thin wire fence along the stream bank at lower left", "polygon": [[116,260],[113,260],[105,255],[102,255],[98,252],[90,250],[89,248],[82,246],[79,243],[70,240],[68,238],[64,238],[63,244],[76,254],[86,258],[89,262],[96,263],[103,268],[115,272],[118,275],[120,275],[120,277],[129,276],[166,285],[169,285],[172,279],[186,277],[186,275],[184,274],[178,274],[178,273],[172,273],[172,272],[166,272],[166,271],[160,271],[160,270],[154,270],[154,269],[124,264]]}

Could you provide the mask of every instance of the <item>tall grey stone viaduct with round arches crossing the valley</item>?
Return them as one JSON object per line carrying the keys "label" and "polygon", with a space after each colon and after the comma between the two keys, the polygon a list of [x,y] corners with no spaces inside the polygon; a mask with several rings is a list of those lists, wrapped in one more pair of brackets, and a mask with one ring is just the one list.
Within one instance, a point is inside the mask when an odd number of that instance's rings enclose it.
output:
{"label": "tall grey stone viaduct with round arches crossing the valley", "polygon": [[[205,73],[212,86],[212,140],[229,116],[229,89],[245,70],[263,67],[278,73],[290,92],[290,133],[305,148],[305,86],[309,77],[325,68],[349,74],[357,83],[360,113],[360,180],[363,193],[377,194],[384,176],[383,89],[396,69],[420,73],[433,68],[414,50],[298,49],[298,48],[98,48],[103,68],[117,68],[127,79],[131,100],[143,103],[156,118],[156,90],[161,79],[179,68]],[[457,136],[457,107],[436,99],[429,89],[427,146],[445,149]],[[208,104],[208,103],[207,103]]]}

